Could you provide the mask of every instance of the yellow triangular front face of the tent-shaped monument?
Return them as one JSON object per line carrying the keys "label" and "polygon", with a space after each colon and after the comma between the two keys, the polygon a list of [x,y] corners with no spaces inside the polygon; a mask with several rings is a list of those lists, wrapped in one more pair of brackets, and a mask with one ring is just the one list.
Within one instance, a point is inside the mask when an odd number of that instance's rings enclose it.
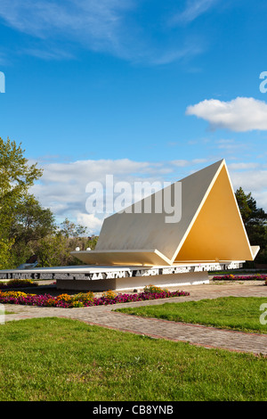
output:
{"label": "yellow triangular front face of the tent-shaped monument", "polygon": [[230,177],[223,163],[174,261],[253,259]]}

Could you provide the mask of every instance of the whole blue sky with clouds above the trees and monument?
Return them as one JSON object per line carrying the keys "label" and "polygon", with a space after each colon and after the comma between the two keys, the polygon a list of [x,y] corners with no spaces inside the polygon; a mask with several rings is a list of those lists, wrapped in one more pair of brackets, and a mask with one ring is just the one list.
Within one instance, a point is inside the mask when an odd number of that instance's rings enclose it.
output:
{"label": "whole blue sky with clouds above the trees and monument", "polygon": [[44,206],[91,232],[88,182],[223,158],[267,210],[266,19],[250,0],[1,0],[0,136],[44,168]]}

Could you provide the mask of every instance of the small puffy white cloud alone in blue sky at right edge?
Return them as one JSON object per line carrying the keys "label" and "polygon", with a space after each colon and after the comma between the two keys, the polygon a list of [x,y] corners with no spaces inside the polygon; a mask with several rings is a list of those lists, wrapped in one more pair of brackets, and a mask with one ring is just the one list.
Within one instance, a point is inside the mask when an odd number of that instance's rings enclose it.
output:
{"label": "small puffy white cloud alone in blue sky at right edge", "polygon": [[186,114],[205,119],[212,129],[225,128],[235,132],[267,130],[267,103],[253,97],[237,97],[230,102],[205,100],[188,106]]}

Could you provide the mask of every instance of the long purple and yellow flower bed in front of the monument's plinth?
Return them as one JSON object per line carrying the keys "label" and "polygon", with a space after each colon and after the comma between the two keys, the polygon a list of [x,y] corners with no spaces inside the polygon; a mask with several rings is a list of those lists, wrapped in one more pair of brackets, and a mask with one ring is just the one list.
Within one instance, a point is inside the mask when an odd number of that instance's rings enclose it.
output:
{"label": "long purple and yellow flower bed in front of the monument's plinth", "polygon": [[75,307],[91,307],[103,306],[109,304],[118,304],[124,302],[167,299],[172,297],[188,296],[189,292],[140,292],[134,294],[115,294],[114,292],[104,292],[101,297],[96,298],[93,292],[80,292],[77,295],[61,294],[53,297],[49,294],[36,295],[26,292],[1,292],[0,303],[21,304],[39,307],[59,307],[59,308],[75,308]]}

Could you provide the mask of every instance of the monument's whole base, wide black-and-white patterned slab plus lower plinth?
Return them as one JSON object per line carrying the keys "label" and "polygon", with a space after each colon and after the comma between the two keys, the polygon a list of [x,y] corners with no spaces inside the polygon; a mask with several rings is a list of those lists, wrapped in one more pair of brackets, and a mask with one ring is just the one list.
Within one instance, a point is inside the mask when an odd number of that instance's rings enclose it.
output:
{"label": "monument's whole base, wide black-and-white patterned slab plus lower plinth", "polygon": [[0,280],[50,279],[59,290],[133,291],[145,285],[180,287],[208,283],[208,272],[237,269],[244,261],[176,263],[173,266],[98,266],[35,267],[0,270]]}

